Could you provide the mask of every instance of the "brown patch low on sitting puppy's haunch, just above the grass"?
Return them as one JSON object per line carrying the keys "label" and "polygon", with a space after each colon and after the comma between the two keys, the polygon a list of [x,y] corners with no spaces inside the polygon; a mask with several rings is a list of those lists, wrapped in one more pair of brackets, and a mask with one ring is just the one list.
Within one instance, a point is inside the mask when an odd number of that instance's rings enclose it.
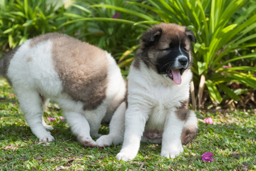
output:
{"label": "brown patch low on sitting puppy's haunch, just above the grass", "polygon": [[180,140],[182,145],[188,144],[191,140],[195,138],[198,134],[198,128],[183,128],[183,131],[180,135]]}

